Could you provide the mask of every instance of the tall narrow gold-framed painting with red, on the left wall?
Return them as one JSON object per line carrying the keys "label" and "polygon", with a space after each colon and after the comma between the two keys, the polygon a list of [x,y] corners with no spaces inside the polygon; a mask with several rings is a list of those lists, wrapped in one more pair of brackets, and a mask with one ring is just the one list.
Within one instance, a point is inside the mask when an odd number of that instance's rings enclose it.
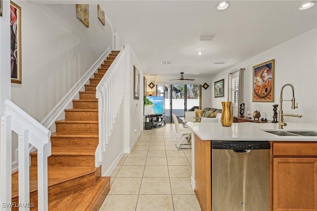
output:
{"label": "tall narrow gold-framed painting with red, on the left wall", "polygon": [[11,83],[22,83],[21,68],[21,7],[10,1]]}

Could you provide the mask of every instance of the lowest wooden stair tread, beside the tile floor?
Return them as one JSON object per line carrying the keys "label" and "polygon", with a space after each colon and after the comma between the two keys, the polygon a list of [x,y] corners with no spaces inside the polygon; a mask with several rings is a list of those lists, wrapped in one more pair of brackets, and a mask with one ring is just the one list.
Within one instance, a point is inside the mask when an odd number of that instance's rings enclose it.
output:
{"label": "lowest wooden stair tread, beside the tile floor", "polygon": [[77,191],[67,197],[49,203],[50,211],[99,210],[110,189],[110,177],[101,177],[89,188]]}

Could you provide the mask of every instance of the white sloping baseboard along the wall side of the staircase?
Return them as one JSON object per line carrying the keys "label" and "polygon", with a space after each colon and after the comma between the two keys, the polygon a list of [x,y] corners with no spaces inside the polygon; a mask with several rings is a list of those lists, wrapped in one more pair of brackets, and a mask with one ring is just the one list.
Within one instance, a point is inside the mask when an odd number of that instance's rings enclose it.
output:
{"label": "white sloping baseboard along the wall side of the staircase", "polygon": [[71,88],[71,90],[65,95],[65,97],[44,118],[44,120],[41,122],[42,125],[44,125],[46,128],[50,128],[52,126],[57,117],[62,112],[64,112],[66,106],[72,102],[80,89],[85,86],[85,83],[94,74],[98,67],[104,62],[109,53],[111,53],[110,47],[98,58],[98,60],[89,68],[89,70],[83,75],[83,77],[81,77],[81,79],[73,86],[73,88]]}

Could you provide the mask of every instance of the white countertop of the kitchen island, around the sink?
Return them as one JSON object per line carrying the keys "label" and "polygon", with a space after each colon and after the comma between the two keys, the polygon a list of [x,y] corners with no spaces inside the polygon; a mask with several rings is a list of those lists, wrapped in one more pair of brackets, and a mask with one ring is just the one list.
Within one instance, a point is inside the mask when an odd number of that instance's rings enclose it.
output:
{"label": "white countertop of the kitchen island, around the sink", "polygon": [[211,141],[317,141],[317,136],[278,136],[263,130],[279,131],[315,131],[317,124],[287,123],[284,129],[278,129],[278,123],[232,123],[224,127],[221,123],[187,122],[200,139]]}

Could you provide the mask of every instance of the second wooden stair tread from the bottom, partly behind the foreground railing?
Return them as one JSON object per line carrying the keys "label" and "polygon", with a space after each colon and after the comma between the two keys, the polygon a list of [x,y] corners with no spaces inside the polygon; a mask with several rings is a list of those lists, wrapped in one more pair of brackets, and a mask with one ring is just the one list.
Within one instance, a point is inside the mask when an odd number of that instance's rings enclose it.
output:
{"label": "second wooden stair tread from the bottom, partly behind the foreground railing", "polygon": [[[95,173],[92,166],[48,166],[48,187]],[[12,175],[12,198],[19,195],[18,172]],[[37,191],[37,166],[30,166],[30,193]]]}

